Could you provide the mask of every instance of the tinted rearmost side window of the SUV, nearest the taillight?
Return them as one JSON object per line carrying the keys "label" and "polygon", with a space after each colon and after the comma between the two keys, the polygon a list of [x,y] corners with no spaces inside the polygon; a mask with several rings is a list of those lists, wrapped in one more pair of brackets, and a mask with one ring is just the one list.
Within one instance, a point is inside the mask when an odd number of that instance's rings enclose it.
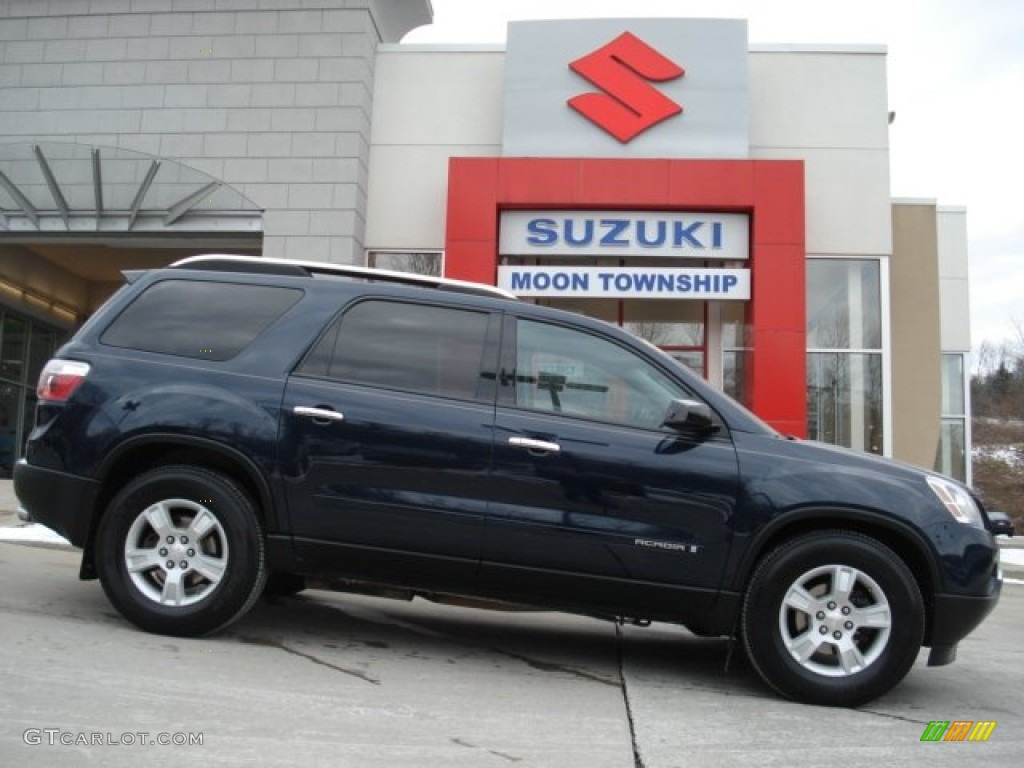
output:
{"label": "tinted rearmost side window of the SUV, nearest the taillight", "polygon": [[121,312],[99,340],[114,347],[226,360],[300,298],[302,291],[295,288],[162,281]]}

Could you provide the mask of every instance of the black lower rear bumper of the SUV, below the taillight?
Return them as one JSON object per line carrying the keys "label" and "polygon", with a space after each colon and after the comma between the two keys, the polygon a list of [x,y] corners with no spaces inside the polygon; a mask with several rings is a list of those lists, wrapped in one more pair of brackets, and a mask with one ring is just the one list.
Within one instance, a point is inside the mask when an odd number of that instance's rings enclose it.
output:
{"label": "black lower rear bumper of the SUV, below the taillight", "polygon": [[22,459],[14,465],[14,493],[34,522],[85,547],[99,485],[67,472],[43,469]]}

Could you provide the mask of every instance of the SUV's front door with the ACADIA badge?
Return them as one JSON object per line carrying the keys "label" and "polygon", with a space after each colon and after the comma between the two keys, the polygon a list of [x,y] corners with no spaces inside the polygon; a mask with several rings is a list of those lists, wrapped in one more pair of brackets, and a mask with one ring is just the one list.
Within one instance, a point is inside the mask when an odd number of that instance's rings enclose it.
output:
{"label": "SUV's front door with the ACADIA badge", "polygon": [[712,594],[738,486],[722,425],[662,426],[693,394],[621,339],[506,324],[485,583],[562,602],[649,598],[648,609],[678,589]]}

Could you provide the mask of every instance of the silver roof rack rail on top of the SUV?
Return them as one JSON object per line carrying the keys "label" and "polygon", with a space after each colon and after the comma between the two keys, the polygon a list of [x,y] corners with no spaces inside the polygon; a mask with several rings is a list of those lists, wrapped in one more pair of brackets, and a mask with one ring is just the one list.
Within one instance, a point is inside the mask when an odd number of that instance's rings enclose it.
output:
{"label": "silver roof rack rail on top of the SUV", "polygon": [[391,269],[373,269],[366,266],[329,264],[321,261],[293,261],[291,259],[266,259],[261,256],[238,256],[230,254],[205,254],[189,256],[170,265],[172,269],[208,269],[219,272],[252,272],[257,274],[283,274],[295,278],[315,278],[317,275],[338,278],[360,278],[368,281],[399,283],[409,286],[434,288],[439,291],[468,293],[502,299],[515,299],[515,294],[482,283],[469,283],[451,278],[436,278],[430,274],[414,274]]}

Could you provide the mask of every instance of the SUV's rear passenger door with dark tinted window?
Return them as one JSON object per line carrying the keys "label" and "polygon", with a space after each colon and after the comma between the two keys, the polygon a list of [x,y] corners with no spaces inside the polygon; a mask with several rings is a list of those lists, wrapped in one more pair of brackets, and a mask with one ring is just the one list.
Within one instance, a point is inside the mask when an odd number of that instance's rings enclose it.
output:
{"label": "SUV's rear passenger door with dark tinted window", "polygon": [[282,416],[307,565],[423,585],[475,577],[499,332],[484,311],[384,299],[329,328],[290,377]]}

